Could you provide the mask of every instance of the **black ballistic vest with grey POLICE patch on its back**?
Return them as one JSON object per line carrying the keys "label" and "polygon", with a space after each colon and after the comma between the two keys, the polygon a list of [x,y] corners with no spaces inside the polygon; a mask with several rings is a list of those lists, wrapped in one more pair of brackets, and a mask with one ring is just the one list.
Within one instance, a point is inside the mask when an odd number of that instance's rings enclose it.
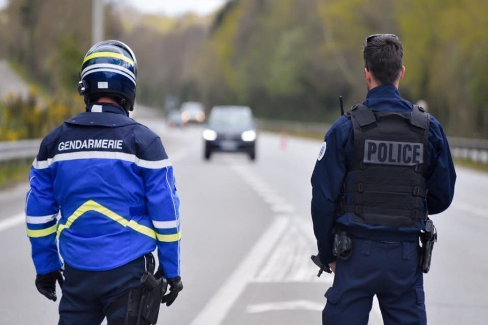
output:
{"label": "black ballistic vest with grey POLICE patch on its back", "polygon": [[347,115],[355,159],[338,212],[352,212],[354,220],[368,224],[417,226],[418,219],[427,217],[429,114],[418,106],[411,113],[394,113],[356,105]]}

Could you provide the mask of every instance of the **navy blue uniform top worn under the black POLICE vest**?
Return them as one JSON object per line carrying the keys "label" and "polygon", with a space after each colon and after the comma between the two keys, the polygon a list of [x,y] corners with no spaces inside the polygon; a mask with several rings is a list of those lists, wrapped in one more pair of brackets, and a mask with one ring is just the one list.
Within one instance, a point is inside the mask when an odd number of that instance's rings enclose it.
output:
{"label": "navy blue uniform top worn under the black POLICE vest", "polygon": [[[392,85],[381,85],[368,92],[363,103],[373,111],[411,112],[413,106],[400,96]],[[414,240],[423,228],[391,228],[370,225],[352,219],[351,213],[335,216],[335,209],[345,180],[348,166],[354,161],[354,132],[351,120],[341,116],[325,135],[325,152],[317,160],[312,174],[312,220],[317,238],[319,256],[324,264],[335,260],[332,254],[332,229],[335,225],[353,232],[355,236],[378,240]],[[454,195],[456,173],[446,135],[439,123],[430,115],[429,147],[426,155],[427,206],[429,214],[449,207]]]}

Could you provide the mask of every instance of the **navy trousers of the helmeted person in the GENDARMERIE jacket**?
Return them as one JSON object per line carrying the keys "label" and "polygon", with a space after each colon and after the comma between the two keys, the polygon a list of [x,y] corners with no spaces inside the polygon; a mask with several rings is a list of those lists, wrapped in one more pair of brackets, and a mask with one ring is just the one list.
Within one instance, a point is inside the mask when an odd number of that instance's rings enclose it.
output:
{"label": "navy trousers of the helmeted person in the GENDARMERIE jacket", "polygon": [[[100,325],[112,302],[141,286],[145,268],[144,256],[103,272],[80,271],[65,265],[58,325]],[[121,308],[110,315],[108,321],[124,317],[125,313],[125,308]]]}

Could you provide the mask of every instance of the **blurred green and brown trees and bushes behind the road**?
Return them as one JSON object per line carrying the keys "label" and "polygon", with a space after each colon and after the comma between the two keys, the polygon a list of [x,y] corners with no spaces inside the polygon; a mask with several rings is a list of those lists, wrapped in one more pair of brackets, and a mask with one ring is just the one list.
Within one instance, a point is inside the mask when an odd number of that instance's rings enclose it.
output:
{"label": "blurred green and brown trees and bushes behind the road", "polygon": [[[105,35],[134,49],[140,103],[239,104],[260,117],[331,122],[339,95],[347,106],[364,99],[365,36],[393,33],[405,50],[402,95],[428,102],[450,135],[488,137],[487,12],[477,0],[233,0],[208,17],[173,18],[112,1]],[[47,110],[35,98],[1,105],[3,138],[38,137],[83,109],[74,92],[91,13],[77,0],[10,0],[0,12],[0,56],[49,94]]]}

